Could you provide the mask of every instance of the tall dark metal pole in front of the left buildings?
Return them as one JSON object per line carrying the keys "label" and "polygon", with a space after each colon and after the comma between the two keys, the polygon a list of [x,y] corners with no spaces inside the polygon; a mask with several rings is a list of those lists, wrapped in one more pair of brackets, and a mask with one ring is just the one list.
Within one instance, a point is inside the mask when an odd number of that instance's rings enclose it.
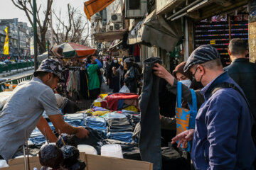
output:
{"label": "tall dark metal pole in front of the left buildings", "polygon": [[33,0],[33,38],[34,38],[34,60],[35,70],[38,69],[38,49],[37,49],[37,26],[36,26],[36,0]]}

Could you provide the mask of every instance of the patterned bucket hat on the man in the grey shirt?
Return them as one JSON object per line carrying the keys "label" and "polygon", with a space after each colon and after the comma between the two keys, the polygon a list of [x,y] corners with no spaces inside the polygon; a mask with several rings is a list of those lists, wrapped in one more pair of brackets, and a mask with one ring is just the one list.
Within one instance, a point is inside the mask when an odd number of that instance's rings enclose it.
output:
{"label": "patterned bucket hat on the man in the grey shirt", "polygon": [[64,80],[62,67],[60,62],[57,59],[46,59],[41,62],[41,65],[33,73],[34,77],[38,75],[39,72],[50,72],[53,73],[60,80]]}

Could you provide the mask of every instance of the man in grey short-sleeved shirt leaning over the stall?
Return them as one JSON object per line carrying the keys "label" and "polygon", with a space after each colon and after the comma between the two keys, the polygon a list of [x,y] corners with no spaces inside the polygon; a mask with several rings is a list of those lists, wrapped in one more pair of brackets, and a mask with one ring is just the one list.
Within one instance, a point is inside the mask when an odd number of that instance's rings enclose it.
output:
{"label": "man in grey short-sleeved shirt leaning over the stall", "polygon": [[82,127],[73,127],[65,123],[57,107],[53,89],[63,79],[58,60],[43,60],[34,72],[31,81],[23,81],[16,86],[0,114],[0,159],[8,161],[21,154],[25,137],[30,137],[37,127],[50,142],[57,138],[43,118],[43,111],[50,118],[55,130],[74,134],[79,138],[88,137],[88,131]]}

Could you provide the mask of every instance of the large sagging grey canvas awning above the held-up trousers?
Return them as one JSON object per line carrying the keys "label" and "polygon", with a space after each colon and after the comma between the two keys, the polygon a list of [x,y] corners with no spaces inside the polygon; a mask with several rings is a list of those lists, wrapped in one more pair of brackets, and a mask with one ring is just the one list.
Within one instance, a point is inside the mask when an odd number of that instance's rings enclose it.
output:
{"label": "large sagging grey canvas awning above the held-up trousers", "polygon": [[143,21],[137,23],[128,35],[129,45],[156,45],[166,51],[173,51],[182,37],[181,22],[167,23],[162,16],[157,16],[154,10]]}

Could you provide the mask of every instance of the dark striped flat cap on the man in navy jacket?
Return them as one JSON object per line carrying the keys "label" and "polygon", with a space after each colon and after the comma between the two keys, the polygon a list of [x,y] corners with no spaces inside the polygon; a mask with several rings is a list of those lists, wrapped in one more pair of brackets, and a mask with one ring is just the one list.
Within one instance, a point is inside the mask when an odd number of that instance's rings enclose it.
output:
{"label": "dark striped flat cap on the man in navy jacket", "polygon": [[188,71],[195,64],[202,64],[220,58],[220,54],[215,47],[210,45],[201,45],[188,57],[184,67],[184,72]]}

